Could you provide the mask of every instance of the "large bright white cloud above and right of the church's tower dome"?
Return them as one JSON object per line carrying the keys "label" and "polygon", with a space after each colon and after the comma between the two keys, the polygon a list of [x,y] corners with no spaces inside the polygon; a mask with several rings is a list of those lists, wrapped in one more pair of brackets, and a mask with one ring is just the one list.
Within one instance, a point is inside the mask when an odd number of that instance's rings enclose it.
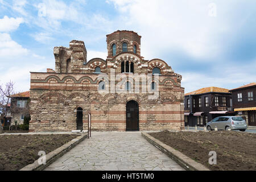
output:
{"label": "large bright white cloud above and right of the church's tower dome", "polygon": [[[222,8],[226,13],[221,11],[216,17],[208,15],[209,1],[108,2],[113,2],[120,13],[117,18],[122,19],[117,23],[119,28],[134,28],[142,35],[141,51],[146,59],[155,57],[163,50],[180,49],[197,61],[205,61],[205,58],[217,57],[223,52],[218,35],[232,31],[229,21],[232,15],[228,14],[232,6],[223,5],[220,1],[216,3],[217,10]],[[152,45],[157,46],[152,48]]]}

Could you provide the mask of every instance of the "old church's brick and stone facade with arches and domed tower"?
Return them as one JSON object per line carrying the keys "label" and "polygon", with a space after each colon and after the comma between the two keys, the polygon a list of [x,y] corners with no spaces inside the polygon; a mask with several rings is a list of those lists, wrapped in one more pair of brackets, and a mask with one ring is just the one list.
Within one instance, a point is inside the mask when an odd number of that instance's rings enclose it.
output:
{"label": "old church's brick and stone facade with arches and domed tower", "polygon": [[[136,101],[139,105],[139,130],[180,130],[184,127],[184,88],[181,87],[181,75],[160,59],[144,60],[141,56],[141,36],[133,31],[115,31],[107,35],[108,57],[106,60],[94,58],[87,61],[84,42],[72,40],[69,48],[55,47],[55,71],[46,73],[31,72],[30,89],[30,130],[31,131],[71,131],[77,129],[77,109],[82,109],[83,129],[87,129],[88,114],[92,118],[94,131],[125,131],[126,104]],[[127,52],[122,51],[126,42]],[[116,53],[113,55],[113,44]],[[134,52],[134,45],[137,50]],[[159,97],[148,99],[154,94],[141,92],[147,85],[139,81],[139,92],[134,89],[117,93],[106,86],[107,93],[98,91],[100,81],[122,82],[118,78],[122,62],[129,61],[134,67],[133,79],[152,74],[152,69],[160,69],[158,85]],[[127,63],[127,64],[128,64]],[[107,78],[99,77],[96,67]],[[115,76],[110,76],[115,73]],[[152,78],[147,84],[151,84]],[[124,82],[125,84],[125,82]],[[123,84],[123,85],[124,85]],[[121,84],[121,88],[123,88]]]}

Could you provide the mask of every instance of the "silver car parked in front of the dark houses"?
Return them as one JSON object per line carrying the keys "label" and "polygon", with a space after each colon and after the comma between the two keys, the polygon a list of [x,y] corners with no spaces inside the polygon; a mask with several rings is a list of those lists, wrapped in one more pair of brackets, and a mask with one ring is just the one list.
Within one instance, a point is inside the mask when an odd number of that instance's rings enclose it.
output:
{"label": "silver car parked in front of the dark houses", "polygon": [[240,130],[245,131],[247,129],[246,121],[242,117],[237,116],[221,116],[212,119],[208,122],[207,130],[214,130],[217,127],[218,130]]}

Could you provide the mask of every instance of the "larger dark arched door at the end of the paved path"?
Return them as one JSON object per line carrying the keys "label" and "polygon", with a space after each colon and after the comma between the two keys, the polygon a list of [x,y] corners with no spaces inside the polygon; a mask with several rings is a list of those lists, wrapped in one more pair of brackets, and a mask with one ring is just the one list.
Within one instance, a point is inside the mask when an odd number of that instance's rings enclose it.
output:
{"label": "larger dark arched door at the end of the paved path", "polygon": [[134,100],[126,103],[126,131],[139,131],[139,104]]}

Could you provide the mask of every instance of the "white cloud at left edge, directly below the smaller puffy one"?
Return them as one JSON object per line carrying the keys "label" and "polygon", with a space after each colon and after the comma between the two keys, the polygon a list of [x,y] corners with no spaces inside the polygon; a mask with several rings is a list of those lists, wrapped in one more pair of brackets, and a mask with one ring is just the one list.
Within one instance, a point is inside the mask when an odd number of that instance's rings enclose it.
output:
{"label": "white cloud at left edge, directly below the smaller puffy one", "polygon": [[28,54],[28,49],[23,48],[20,44],[11,39],[11,36],[6,33],[0,33],[0,59],[14,59],[18,56]]}

